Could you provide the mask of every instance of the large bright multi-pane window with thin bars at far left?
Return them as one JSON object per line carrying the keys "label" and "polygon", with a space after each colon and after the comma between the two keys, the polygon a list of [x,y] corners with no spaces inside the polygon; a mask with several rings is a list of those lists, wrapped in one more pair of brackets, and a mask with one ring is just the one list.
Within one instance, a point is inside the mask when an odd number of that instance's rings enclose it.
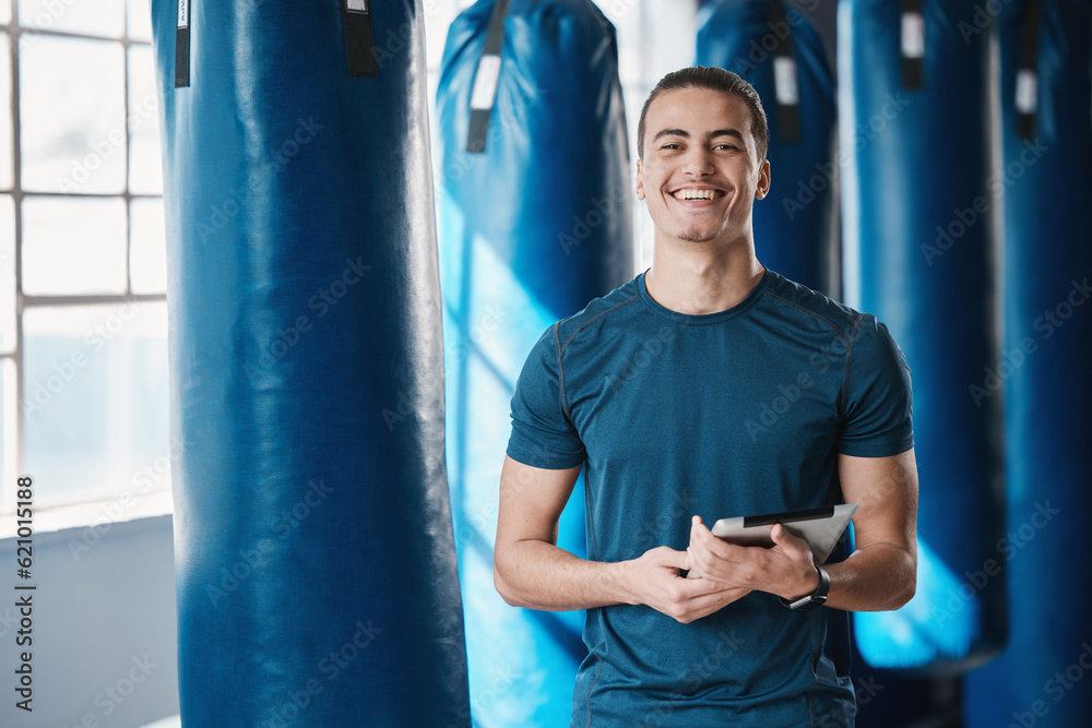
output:
{"label": "large bright multi-pane window with thin bars at far left", "polygon": [[0,103],[13,111],[0,116],[0,513],[23,474],[39,510],[165,493],[163,182],[146,0],[0,0]]}

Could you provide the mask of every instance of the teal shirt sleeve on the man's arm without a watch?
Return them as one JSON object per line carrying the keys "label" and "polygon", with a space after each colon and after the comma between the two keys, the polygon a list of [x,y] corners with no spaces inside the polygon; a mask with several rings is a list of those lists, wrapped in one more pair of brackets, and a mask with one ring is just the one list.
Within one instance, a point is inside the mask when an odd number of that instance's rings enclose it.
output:
{"label": "teal shirt sleeve on the man's arm without a watch", "polygon": [[562,409],[557,324],[539,337],[512,395],[508,456],[524,465],[563,469],[584,462],[584,443]]}

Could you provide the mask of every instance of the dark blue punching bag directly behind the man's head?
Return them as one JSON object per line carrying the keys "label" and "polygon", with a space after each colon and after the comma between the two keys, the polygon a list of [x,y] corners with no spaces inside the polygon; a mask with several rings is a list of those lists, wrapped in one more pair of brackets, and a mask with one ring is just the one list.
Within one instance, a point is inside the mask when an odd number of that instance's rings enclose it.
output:
{"label": "dark blue punching bag directly behind the man's head", "polygon": [[755,205],[759,260],[840,296],[834,83],[819,34],[783,0],[719,0],[698,24],[698,64],[738,73],[765,109],[772,194]]}

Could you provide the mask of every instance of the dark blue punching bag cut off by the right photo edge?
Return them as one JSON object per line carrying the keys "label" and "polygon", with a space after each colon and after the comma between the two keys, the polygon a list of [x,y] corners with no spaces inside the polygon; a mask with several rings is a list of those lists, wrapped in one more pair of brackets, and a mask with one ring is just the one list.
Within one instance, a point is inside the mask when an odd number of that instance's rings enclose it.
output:
{"label": "dark blue punching bag cut off by the right photo edge", "polygon": [[[968,676],[966,725],[1092,716],[1092,11],[1025,0],[1000,17],[1009,645]],[[1081,681],[1081,678],[1084,681]]]}

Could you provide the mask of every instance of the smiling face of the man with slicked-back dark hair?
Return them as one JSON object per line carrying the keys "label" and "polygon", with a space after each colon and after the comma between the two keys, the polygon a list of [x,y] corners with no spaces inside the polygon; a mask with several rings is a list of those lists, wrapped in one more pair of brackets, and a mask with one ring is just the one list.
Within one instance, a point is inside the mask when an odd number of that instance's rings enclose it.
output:
{"label": "smiling face of the man with slicked-back dark hair", "polygon": [[645,115],[637,198],[646,200],[656,237],[731,242],[750,231],[751,206],[770,189],[758,159],[747,104],[709,88],[657,96]]}

